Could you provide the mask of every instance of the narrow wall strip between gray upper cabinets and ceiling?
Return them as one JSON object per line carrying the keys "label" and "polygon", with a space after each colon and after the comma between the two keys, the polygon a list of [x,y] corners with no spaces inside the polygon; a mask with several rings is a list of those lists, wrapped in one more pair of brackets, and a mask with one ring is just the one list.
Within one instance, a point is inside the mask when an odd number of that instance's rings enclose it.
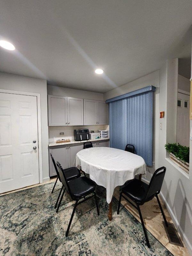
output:
{"label": "narrow wall strip between gray upper cabinets and ceiling", "polygon": [[47,85],[47,94],[88,100],[103,100],[103,93],[75,90],[52,85]]}

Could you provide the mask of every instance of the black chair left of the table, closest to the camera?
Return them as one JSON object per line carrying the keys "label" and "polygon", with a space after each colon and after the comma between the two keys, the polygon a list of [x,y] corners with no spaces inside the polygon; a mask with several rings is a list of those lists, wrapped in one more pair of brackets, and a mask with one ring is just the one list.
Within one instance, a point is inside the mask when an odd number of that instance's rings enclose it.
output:
{"label": "black chair left of the table, closest to the camera", "polygon": [[[68,181],[67,178],[66,178],[66,174],[65,174],[65,172],[64,172],[64,170],[63,170],[63,168],[62,168],[62,166],[60,165],[59,162],[57,162],[57,167],[58,167],[58,172],[60,174],[61,182],[62,182],[63,186],[65,187],[64,191],[62,193],[62,196],[60,198],[59,205],[60,205],[60,203],[63,199],[63,195],[65,193],[65,190],[67,190],[67,193],[71,196],[71,199],[76,201],[75,205],[74,205],[74,208],[73,208],[73,212],[72,212],[70,221],[69,221],[69,224],[68,224],[67,231],[65,233],[65,236],[68,236],[69,228],[71,226],[71,222],[73,220],[75,209],[76,209],[78,204],[81,204],[81,203],[87,201],[88,199],[90,199],[94,196],[98,215],[99,215],[99,207],[98,207],[98,204],[97,204],[97,196],[96,196],[96,193],[95,193],[95,183],[92,180],[90,180],[87,177],[82,176],[82,177],[77,178],[75,180]],[[91,194],[93,194],[93,195],[91,195]],[[88,195],[91,195],[91,196],[88,196]],[[86,197],[86,196],[88,196],[88,197]],[[79,202],[79,200],[82,199],[82,198],[84,198],[84,200]]]}

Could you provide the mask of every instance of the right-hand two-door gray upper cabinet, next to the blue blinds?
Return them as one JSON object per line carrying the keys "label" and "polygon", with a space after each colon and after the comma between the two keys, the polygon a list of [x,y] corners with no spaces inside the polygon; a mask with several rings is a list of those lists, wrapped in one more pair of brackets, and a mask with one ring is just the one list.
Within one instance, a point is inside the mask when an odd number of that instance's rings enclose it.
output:
{"label": "right-hand two-door gray upper cabinet, next to the blue blinds", "polygon": [[108,104],[84,99],[84,125],[108,124]]}

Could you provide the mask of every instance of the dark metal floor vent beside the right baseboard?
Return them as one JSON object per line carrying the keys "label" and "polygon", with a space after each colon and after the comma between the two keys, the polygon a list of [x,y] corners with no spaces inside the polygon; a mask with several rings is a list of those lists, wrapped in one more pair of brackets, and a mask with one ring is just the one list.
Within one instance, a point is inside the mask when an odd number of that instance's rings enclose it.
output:
{"label": "dark metal floor vent beside the right baseboard", "polygon": [[180,237],[177,233],[177,230],[176,230],[174,224],[170,223],[170,222],[167,222],[167,223],[168,223],[168,227],[166,227],[165,222],[163,221],[163,225],[164,225],[165,231],[167,233],[169,243],[184,247],[184,245],[183,245],[183,243],[182,243],[182,241],[181,241],[181,239],[180,239]]}

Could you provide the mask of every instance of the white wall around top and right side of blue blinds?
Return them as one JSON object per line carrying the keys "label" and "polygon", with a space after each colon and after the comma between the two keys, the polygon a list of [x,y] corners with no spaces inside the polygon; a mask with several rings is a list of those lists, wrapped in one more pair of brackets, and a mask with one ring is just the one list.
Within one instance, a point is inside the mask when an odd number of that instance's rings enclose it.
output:
{"label": "white wall around top and right side of blue blinds", "polygon": [[[104,100],[122,95],[127,92],[132,92],[148,85],[156,86],[156,92],[154,93],[154,112],[153,112],[153,162],[154,167],[148,168],[149,172],[146,175],[146,179],[149,181],[156,166],[158,166],[158,140],[159,140],[159,70],[143,76],[137,80],[134,80],[128,84],[124,84],[112,91],[104,93]],[[105,128],[106,129],[106,128]],[[110,136],[110,135],[109,135]]]}

